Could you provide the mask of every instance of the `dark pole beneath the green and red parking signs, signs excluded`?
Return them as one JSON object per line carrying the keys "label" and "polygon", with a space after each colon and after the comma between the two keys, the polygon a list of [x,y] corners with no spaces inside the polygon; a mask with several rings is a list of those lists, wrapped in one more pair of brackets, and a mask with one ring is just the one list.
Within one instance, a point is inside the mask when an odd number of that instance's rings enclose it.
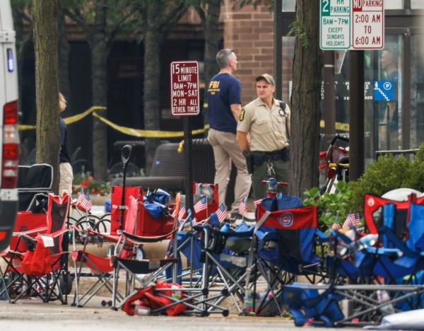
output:
{"label": "dark pole beneath the green and red parking signs, signs excluded", "polygon": [[364,172],[364,51],[351,51],[349,100],[349,180],[357,180]]}

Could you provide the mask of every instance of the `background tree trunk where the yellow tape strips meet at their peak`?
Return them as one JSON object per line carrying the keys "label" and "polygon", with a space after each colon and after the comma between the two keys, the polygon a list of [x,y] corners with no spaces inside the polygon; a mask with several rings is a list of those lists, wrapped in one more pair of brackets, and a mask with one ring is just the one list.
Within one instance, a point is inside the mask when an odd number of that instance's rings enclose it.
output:
{"label": "background tree trunk where the yellow tape strips meet at their peak", "polygon": [[[107,107],[107,56],[110,50],[105,33],[106,12],[106,1],[96,1],[95,33],[90,40],[93,105],[104,107]],[[107,116],[107,113],[103,112],[102,115]],[[107,127],[95,117],[93,117],[93,168],[96,179],[107,180]]]}

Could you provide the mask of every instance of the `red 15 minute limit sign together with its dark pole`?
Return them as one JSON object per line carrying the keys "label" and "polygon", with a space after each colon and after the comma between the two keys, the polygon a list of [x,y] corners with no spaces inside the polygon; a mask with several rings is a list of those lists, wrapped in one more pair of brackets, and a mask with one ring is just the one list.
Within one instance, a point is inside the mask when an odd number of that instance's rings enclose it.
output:
{"label": "red 15 minute limit sign together with its dark pole", "polygon": [[192,128],[190,116],[199,115],[199,64],[194,61],[172,62],[171,114],[184,116],[184,165],[186,176],[185,207],[193,209]]}

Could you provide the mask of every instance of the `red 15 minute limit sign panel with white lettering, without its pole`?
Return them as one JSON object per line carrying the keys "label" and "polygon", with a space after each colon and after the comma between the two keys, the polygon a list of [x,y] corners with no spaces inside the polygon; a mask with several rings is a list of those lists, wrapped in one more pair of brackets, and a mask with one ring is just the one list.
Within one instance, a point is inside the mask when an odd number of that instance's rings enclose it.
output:
{"label": "red 15 minute limit sign panel with white lettering, without its pole", "polygon": [[171,113],[174,116],[199,115],[199,64],[171,63]]}

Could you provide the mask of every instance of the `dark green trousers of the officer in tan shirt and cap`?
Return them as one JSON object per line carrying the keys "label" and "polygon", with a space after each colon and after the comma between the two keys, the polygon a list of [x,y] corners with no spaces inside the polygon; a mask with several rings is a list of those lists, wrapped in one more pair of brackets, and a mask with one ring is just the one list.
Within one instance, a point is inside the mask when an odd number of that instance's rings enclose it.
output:
{"label": "dark green trousers of the officer in tan shirt and cap", "polygon": [[[278,182],[288,182],[288,161],[276,160],[271,162],[273,164],[273,169],[275,175],[272,174],[271,177],[274,177]],[[261,184],[261,180],[267,180],[270,176],[267,173],[268,162],[265,161],[259,166],[254,166],[252,174],[252,187],[254,199],[261,199],[265,196],[266,184]],[[278,186],[278,192],[283,192],[287,194],[288,188],[285,186]]]}

